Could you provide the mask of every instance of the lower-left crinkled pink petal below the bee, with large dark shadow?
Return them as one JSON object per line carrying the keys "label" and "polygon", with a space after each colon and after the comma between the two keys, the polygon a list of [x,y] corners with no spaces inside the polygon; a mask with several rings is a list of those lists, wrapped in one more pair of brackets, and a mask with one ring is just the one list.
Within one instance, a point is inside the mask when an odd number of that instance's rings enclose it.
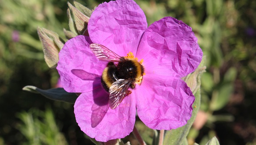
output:
{"label": "lower-left crinkled pink petal below the bee, with large dark shadow", "polygon": [[82,93],[75,101],[75,119],[90,138],[97,141],[124,138],[133,130],[135,98],[127,96],[116,109],[108,105],[109,94],[102,88]]}

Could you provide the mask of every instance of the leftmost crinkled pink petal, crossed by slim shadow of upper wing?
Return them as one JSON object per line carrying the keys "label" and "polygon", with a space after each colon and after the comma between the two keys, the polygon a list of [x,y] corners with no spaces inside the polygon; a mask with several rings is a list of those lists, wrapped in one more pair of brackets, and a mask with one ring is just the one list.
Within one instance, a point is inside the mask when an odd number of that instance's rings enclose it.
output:
{"label": "leftmost crinkled pink petal, crossed by slim shadow of upper wing", "polygon": [[101,86],[101,75],[107,62],[100,62],[90,50],[87,36],[76,36],[65,43],[59,53],[57,70],[63,88],[68,92],[88,92]]}

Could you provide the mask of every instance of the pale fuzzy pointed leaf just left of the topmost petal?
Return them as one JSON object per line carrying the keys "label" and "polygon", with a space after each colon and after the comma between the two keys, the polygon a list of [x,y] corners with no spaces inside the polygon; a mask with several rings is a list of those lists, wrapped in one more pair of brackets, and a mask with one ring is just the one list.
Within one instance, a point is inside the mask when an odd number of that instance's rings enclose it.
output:
{"label": "pale fuzzy pointed leaf just left of the topmost petal", "polygon": [[83,34],[84,30],[87,28],[90,17],[84,15],[70,3],[68,3],[68,7],[74,16],[76,29],[78,30],[79,34]]}

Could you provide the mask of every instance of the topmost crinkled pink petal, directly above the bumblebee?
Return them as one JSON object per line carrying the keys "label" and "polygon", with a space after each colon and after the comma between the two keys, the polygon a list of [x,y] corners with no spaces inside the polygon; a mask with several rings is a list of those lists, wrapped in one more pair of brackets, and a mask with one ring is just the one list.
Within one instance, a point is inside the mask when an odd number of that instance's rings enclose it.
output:
{"label": "topmost crinkled pink petal, directly above the bumblebee", "polygon": [[120,56],[126,56],[129,51],[136,54],[146,29],[146,16],[133,0],[100,4],[88,23],[92,42],[102,44]]}

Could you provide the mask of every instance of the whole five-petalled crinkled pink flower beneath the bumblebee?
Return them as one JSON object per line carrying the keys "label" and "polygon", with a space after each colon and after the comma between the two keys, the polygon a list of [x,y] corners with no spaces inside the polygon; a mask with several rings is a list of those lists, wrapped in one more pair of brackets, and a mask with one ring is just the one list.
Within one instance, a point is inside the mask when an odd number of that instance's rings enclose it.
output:
{"label": "whole five-petalled crinkled pink flower beneath the bumblebee", "polygon": [[[89,36],[76,36],[60,51],[58,72],[68,92],[82,93],[75,102],[75,118],[85,134],[97,141],[124,138],[133,130],[136,110],[140,120],[157,130],[187,123],[193,96],[181,77],[193,72],[202,50],[192,29],[172,17],[147,27],[146,17],[133,0],[100,4],[90,17]],[[91,43],[108,47],[121,57],[132,52],[143,59],[145,74],[116,109],[109,108],[109,93],[101,85],[108,62],[99,61]]]}

